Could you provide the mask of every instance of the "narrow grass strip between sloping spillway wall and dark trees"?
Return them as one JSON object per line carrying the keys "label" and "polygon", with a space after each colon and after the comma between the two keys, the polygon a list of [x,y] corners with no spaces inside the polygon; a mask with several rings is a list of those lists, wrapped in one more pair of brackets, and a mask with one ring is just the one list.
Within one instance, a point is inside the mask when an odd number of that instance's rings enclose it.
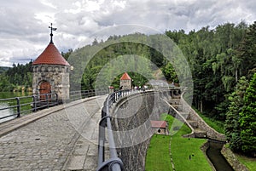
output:
{"label": "narrow grass strip between sloping spillway wall and dark trees", "polygon": [[196,110],[195,107],[193,107],[193,109],[210,127],[215,129],[218,133],[224,134],[224,122],[204,116],[200,111]]}

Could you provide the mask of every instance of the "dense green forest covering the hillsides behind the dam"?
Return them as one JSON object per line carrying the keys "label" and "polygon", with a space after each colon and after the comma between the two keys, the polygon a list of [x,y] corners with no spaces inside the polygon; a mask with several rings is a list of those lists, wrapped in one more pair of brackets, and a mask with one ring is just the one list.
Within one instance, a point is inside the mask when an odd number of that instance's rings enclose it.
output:
{"label": "dense green forest covering the hillsides behind the dam", "polygon": [[[195,108],[225,123],[225,134],[233,151],[255,155],[256,22],[250,26],[244,22],[226,23],[212,30],[206,26],[189,33],[183,30],[165,33],[189,63]],[[134,38],[140,41],[129,41]],[[117,88],[120,73],[126,69],[129,69],[133,86],[147,84],[150,79],[159,77],[160,72],[169,83],[179,83],[177,64],[164,57],[175,54],[176,49],[163,55],[147,45],[149,41],[154,47],[165,48],[166,44],[154,41],[157,38],[140,33],[111,36],[105,42],[95,39],[91,45],[61,54],[74,66],[71,83],[81,89],[96,88],[99,84]],[[18,85],[31,86],[31,64],[14,65],[0,74],[0,91],[10,91]],[[109,82],[101,83],[101,77],[108,78]]]}

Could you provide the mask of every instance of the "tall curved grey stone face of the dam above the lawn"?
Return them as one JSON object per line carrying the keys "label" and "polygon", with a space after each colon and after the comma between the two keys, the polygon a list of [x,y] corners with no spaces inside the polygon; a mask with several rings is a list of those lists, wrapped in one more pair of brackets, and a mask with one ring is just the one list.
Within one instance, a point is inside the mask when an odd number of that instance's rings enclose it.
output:
{"label": "tall curved grey stone face of the dam above the lawn", "polygon": [[161,113],[169,111],[169,105],[162,101],[168,93],[146,91],[132,94],[119,100],[112,110],[113,130],[119,157],[125,170],[144,170],[145,157],[154,129],[150,120],[160,120]]}

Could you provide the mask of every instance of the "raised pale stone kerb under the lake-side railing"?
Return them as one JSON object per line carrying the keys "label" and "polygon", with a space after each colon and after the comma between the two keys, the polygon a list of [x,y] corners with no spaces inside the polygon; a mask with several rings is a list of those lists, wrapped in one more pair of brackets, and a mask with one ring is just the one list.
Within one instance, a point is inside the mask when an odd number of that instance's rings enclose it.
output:
{"label": "raised pale stone kerb under the lake-side railing", "polygon": [[18,128],[24,127],[29,123],[33,123],[42,117],[46,117],[49,114],[54,113],[55,111],[61,111],[67,107],[71,107],[73,105],[78,105],[80,103],[84,103],[85,101],[94,100],[94,99],[96,99],[96,97],[97,96],[82,99],[82,100],[76,100],[76,101],[73,101],[73,102],[70,102],[67,104],[57,105],[54,107],[50,107],[48,109],[44,109],[42,111],[37,111],[32,114],[27,114],[26,116],[23,116],[20,118],[15,118],[13,120],[10,120],[10,121],[4,122],[4,123],[0,123],[0,128],[1,128],[0,138],[6,134],[11,133],[12,131],[14,131]]}

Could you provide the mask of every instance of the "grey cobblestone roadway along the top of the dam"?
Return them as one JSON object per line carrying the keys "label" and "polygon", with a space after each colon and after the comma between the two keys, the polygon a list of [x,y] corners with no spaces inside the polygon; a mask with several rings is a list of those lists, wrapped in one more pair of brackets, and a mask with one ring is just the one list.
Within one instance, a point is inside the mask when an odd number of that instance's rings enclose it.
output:
{"label": "grey cobblestone roadway along the top of the dam", "polygon": [[98,122],[106,97],[0,124],[0,170],[96,170]]}

